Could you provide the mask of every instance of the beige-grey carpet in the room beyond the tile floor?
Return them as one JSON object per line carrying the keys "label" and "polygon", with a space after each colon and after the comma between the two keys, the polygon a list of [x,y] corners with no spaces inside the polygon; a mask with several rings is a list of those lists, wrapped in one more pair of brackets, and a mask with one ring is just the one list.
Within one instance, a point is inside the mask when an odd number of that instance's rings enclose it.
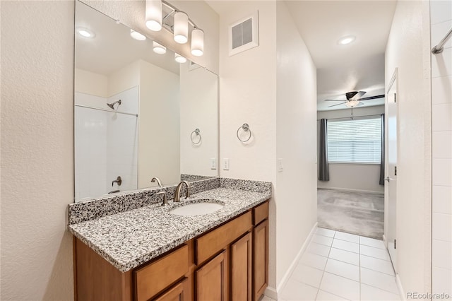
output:
{"label": "beige-grey carpet in the room beyond the tile floor", "polygon": [[383,194],[317,189],[317,205],[319,228],[382,239]]}

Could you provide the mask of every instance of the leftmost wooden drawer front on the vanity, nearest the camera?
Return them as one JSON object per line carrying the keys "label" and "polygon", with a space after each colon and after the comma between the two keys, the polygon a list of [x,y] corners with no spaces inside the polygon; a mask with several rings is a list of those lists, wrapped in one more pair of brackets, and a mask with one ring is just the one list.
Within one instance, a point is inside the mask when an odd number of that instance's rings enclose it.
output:
{"label": "leftmost wooden drawer front on the vanity, nearest the camera", "polygon": [[189,247],[179,249],[133,272],[136,300],[149,300],[189,271]]}

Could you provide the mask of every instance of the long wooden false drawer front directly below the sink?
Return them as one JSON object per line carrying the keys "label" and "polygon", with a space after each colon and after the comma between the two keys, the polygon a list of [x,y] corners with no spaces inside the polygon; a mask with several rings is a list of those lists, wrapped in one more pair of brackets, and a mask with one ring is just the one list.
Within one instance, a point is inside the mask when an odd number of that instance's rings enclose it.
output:
{"label": "long wooden false drawer front directly below the sink", "polygon": [[220,228],[208,232],[195,240],[196,264],[201,264],[215,253],[230,244],[237,237],[242,236],[252,227],[251,211],[222,225]]}

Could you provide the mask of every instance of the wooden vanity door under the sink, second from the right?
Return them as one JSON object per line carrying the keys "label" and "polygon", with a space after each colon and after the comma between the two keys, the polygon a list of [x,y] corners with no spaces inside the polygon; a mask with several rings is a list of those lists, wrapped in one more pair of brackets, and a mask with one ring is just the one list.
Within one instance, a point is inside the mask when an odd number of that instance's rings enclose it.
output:
{"label": "wooden vanity door under the sink, second from the right", "polygon": [[230,285],[231,300],[251,301],[251,232],[231,244]]}

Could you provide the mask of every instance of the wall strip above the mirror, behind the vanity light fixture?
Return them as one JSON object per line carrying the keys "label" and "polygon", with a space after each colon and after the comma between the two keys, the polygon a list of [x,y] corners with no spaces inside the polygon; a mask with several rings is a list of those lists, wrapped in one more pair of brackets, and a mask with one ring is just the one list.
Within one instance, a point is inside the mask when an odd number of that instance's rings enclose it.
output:
{"label": "wall strip above the mirror, behind the vanity light fixture", "polygon": [[174,42],[172,33],[167,30],[155,32],[145,26],[145,1],[98,1],[83,0],[83,3],[97,9],[129,28],[143,33],[151,39],[166,45],[168,49],[191,59],[201,66],[218,74],[218,15],[205,1],[169,1],[180,10],[186,12],[191,20],[204,30],[204,54],[194,57],[191,54],[190,43],[178,44]]}

